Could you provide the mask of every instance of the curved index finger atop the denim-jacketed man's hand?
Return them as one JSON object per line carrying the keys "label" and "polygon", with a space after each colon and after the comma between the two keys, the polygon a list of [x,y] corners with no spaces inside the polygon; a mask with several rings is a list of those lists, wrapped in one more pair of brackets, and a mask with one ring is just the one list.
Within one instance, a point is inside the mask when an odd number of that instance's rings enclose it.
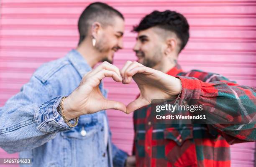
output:
{"label": "curved index finger atop the denim-jacketed man's hand", "polygon": [[107,61],[104,61],[103,63],[101,63],[99,66],[97,66],[95,69],[93,69],[92,71],[90,71],[90,73],[88,74],[87,77],[91,77],[93,75],[95,75],[96,73],[100,72],[101,70],[109,70],[109,71],[114,71],[115,73],[118,74],[118,76],[120,78],[122,78],[121,74],[120,74],[120,70],[118,67],[114,66],[113,64],[108,63]]}

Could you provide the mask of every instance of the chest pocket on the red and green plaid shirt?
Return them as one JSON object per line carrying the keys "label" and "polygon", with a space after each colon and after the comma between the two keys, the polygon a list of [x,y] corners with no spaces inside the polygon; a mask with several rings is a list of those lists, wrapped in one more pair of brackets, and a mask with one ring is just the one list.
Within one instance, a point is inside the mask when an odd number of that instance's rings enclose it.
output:
{"label": "chest pocket on the red and green plaid shirt", "polygon": [[196,166],[197,157],[193,128],[167,128],[164,130],[165,157],[174,167]]}

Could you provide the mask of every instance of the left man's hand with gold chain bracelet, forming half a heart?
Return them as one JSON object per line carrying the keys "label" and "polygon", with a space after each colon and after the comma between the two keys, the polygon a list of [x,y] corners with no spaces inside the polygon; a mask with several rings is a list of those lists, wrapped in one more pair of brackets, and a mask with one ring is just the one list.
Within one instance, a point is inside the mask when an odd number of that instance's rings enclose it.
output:
{"label": "left man's hand with gold chain bracelet, forming half a heart", "polygon": [[99,84],[105,77],[112,77],[116,82],[122,81],[119,69],[106,61],[86,73],[77,89],[64,99],[63,112],[67,120],[105,109],[126,112],[126,106],[123,103],[108,100],[101,94]]}

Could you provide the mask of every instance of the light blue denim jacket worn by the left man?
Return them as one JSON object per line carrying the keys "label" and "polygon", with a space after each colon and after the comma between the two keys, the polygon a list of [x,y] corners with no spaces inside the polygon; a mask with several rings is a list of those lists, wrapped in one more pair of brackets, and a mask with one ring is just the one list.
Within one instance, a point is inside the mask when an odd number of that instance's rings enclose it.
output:
{"label": "light blue denim jacket worn by the left man", "polygon": [[[32,158],[30,167],[123,167],[127,154],[112,144],[110,131],[108,147],[104,143],[105,111],[83,115],[71,128],[56,110],[61,97],[90,70],[76,50],[39,67],[20,93],[0,107],[0,147]],[[100,90],[106,97],[102,83]]]}

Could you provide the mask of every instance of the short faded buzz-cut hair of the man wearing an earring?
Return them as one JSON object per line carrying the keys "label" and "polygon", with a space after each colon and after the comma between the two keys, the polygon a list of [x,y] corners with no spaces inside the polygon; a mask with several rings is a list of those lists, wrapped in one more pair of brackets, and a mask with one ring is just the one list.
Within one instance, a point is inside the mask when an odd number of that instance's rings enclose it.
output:
{"label": "short faded buzz-cut hair of the man wearing an earring", "polygon": [[78,20],[78,45],[87,37],[88,30],[93,22],[99,22],[102,27],[113,25],[114,16],[118,16],[124,20],[123,15],[118,10],[105,3],[96,2],[87,6]]}

